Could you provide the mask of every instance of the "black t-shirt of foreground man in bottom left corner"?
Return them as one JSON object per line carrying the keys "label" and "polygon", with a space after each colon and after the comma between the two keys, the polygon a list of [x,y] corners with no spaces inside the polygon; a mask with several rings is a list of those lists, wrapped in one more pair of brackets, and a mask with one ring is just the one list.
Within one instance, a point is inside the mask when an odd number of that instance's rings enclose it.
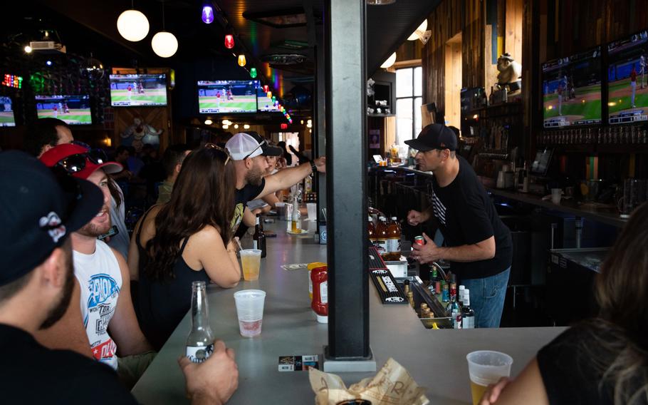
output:
{"label": "black t-shirt of foreground man in bottom left corner", "polygon": [[137,404],[109,366],[50,350],[27,332],[0,324],[3,404]]}

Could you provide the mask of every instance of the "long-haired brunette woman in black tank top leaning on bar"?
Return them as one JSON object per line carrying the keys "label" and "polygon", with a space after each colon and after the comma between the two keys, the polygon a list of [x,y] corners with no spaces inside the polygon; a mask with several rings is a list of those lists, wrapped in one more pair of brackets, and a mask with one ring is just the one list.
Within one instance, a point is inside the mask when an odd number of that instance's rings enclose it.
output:
{"label": "long-haired brunette woman in black tank top leaning on bar", "polygon": [[128,257],[131,277],[139,279],[135,312],[157,350],[191,308],[192,282],[231,288],[241,279],[229,224],[234,182],[227,151],[207,144],[182,163],[171,200],[135,227]]}

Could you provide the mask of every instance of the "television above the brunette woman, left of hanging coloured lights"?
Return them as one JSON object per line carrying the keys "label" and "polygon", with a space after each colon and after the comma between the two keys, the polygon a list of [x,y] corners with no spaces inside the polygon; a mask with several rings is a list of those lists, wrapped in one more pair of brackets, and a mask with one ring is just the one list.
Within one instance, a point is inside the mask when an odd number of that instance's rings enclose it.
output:
{"label": "television above the brunette woman, left of hanging coloured lights", "polygon": [[198,82],[199,113],[256,113],[256,80]]}

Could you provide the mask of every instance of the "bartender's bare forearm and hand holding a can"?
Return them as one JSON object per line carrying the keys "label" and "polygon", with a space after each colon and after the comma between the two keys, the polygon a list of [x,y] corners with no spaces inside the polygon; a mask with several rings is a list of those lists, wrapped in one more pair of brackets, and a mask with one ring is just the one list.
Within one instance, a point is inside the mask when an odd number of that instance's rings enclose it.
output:
{"label": "bartender's bare forearm and hand holding a can", "polygon": [[461,245],[455,247],[439,247],[427,235],[423,234],[426,244],[421,246],[412,245],[412,258],[420,263],[436,262],[443,259],[450,262],[477,262],[495,257],[495,237],[491,236],[486,240],[472,245]]}

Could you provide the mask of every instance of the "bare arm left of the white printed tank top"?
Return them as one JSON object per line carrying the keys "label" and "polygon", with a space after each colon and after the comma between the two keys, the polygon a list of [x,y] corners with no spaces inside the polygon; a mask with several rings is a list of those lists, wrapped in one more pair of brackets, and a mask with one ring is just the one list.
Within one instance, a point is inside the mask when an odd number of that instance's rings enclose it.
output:
{"label": "bare arm left of the white printed tank top", "polygon": [[81,289],[78,280],[74,277],[74,289],[66,313],[52,327],[36,332],[35,337],[49,349],[68,349],[92,359],[88,334],[85,332],[81,317],[80,301]]}

